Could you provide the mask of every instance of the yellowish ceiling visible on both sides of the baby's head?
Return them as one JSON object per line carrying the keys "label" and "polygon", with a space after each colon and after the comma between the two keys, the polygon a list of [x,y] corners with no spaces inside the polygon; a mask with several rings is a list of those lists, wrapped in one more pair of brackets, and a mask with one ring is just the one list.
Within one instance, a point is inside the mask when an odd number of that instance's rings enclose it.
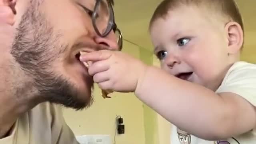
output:
{"label": "yellowish ceiling visible on both sides of the baby's head", "polygon": [[[156,6],[162,0],[115,0],[115,16],[124,38],[141,48],[152,50],[148,23]],[[252,35],[256,34],[256,0],[236,0],[245,24],[246,44],[256,46]],[[254,34],[255,33],[255,34]],[[250,39],[250,40],[249,40]],[[256,50],[255,54],[256,54]]]}

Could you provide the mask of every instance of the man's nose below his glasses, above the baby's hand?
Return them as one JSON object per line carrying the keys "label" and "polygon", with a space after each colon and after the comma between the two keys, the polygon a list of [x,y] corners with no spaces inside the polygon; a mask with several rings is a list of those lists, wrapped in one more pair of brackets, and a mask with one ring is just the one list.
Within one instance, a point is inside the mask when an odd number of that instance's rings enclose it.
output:
{"label": "man's nose below his glasses, above the baby's hand", "polygon": [[112,30],[106,37],[96,36],[95,42],[108,47],[108,50],[118,50],[117,37]]}

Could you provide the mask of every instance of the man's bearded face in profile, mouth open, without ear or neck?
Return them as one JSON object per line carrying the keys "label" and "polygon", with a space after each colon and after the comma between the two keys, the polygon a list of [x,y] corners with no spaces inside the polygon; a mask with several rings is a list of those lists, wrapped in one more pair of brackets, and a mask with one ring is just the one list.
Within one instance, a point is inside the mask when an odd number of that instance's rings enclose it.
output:
{"label": "man's bearded face in profile, mouth open, without ear or neck", "polygon": [[[106,0],[102,1],[106,3]],[[27,88],[25,84],[30,83],[35,90],[32,97],[75,109],[91,104],[94,82],[88,69],[78,60],[79,52],[118,50],[114,32],[111,31],[105,38],[98,36],[90,14],[82,8],[84,6],[93,10],[95,2],[18,1],[18,31],[11,54],[16,60],[15,64],[18,64],[14,67],[16,71],[25,74],[21,81],[17,81],[22,83],[18,84],[19,89]],[[106,12],[103,6],[100,7],[100,14]],[[107,19],[108,14],[104,16]],[[106,22],[104,18],[101,20],[98,23],[99,30],[104,30]]]}

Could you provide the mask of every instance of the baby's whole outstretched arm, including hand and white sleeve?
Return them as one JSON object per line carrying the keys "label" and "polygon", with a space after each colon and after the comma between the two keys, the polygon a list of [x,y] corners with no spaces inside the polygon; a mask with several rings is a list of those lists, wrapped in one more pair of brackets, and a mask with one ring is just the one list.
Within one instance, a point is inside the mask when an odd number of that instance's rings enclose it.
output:
{"label": "baby's whole outstretched arm, including hand and white sleeve", "polygon": [[[221,93],[216,94],[159,68],[145,66],[122,52],[96,51],[80,60],[93,61],[88,72],[100,88],[117,92],[135,90],[140,100],[172,124],[199,138],[230,138],[248,132],[256,125],[254,65],[254,70],[249,69],[250,74],[247,69],[242,70],[242,76],[237,76],[240,69],[230,74]],[[237,82],[240,85],[234,86]]]}

